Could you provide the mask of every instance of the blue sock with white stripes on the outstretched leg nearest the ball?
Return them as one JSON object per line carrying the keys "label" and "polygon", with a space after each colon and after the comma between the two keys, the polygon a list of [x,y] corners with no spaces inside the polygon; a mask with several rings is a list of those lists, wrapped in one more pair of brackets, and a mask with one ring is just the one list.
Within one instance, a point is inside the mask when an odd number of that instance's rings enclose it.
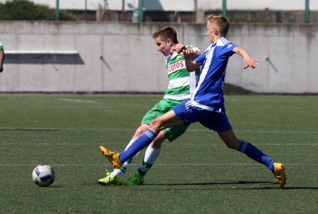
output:
{"label": "blue sock with white stripes on the outstretched leg nearest the ball", "polygon": [[147,129],[146,132],[140,136],[130,147],[128,147],[124,152],[119,153],[119,161],[125,162],[126,160],[131,159],[139,151],[151,144],[156,137],[157,135],[153,131]]}

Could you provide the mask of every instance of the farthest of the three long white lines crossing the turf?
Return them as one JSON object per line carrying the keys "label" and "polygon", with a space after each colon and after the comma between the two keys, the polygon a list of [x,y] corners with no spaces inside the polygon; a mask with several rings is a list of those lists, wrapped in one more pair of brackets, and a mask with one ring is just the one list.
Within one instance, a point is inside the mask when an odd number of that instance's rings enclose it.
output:
{"label": "farthest of the three long white lines crossing the turf", "polygon": [[[133,128],[34,128],[34,127],[0,127],[0,130],[49,130],[49,131],[135,131]],[[202,129],[188,129],[187,132],[214,132],[211,130]],[[246,133],[296,133],[296,134],[318,134],[318,131],[296,131],[296,130],[234,130],[234,132],[246,132]]]}

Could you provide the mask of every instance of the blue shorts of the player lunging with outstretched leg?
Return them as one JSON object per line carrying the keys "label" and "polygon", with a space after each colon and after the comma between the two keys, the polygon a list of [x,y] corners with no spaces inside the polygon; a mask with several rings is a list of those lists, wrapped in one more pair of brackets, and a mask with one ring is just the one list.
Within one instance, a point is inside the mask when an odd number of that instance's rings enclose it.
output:
{"label": "blue shorts of the player lunging with outstretched leg", "polygon": [[[187,107],[185,107],[185,104],[187,104]],[[176,105],[172,107],[172,110],[179,119],[184,121],[184,125],[199,122],[203,126],[216,132],[229,131],[232,129],[230,121],[225,113],[205,110],[189,105],[189,102]]]}

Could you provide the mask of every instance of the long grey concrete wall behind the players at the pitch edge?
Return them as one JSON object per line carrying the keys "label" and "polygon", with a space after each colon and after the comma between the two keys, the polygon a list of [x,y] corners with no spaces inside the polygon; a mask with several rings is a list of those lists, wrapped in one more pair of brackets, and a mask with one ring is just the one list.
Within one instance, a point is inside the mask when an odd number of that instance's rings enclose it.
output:
{"label": "long grey concrete wall behind the players at the pitch edge", "polygon": [[[1,21],[0,92],[163,92],[165,57],[152,34],[169,25],[204,51],[205,24]],[[227,39],[259,59],[230,58],[226,82],[263,93],[318,93],[318,25],[232,24]],[[78,54],[63,54],[74,52]],[[45,54],[45,52],[48,52]],[[24,53],[24,54],[21,54]]]}

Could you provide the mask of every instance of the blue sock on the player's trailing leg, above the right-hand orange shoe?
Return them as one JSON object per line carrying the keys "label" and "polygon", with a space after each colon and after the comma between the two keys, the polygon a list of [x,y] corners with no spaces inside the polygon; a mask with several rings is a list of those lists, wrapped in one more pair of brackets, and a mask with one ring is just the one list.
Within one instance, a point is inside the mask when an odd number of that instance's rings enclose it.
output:
{"label": "blue sock on the player's trailing leg, above the right-hand orange shoe", "polygon": [[252,144],[242,141],[239,146],[239,151],[247,155],[247,157],[266,165],[272,172],[274,172],[274,161]]}

